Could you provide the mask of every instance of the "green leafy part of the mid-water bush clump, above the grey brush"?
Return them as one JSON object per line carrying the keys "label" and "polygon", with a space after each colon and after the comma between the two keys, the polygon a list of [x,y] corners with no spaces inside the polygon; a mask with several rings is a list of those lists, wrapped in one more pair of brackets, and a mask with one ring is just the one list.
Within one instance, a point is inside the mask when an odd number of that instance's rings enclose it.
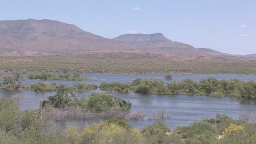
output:
{"label": "green leafy part of the mid-water bush clump, above the grey brush", "polygon": [[82,97],[81,100],[75,98],[72,87],[59,85],[57,94],[49,96],[44,100],[45,108],[53,106],[54,108],[81,108],[102,113],[103,111],[113,110],[117,112],[130,112],[132,103],[122,98],[113,97],[105,93],[92,93],[89,98]]}

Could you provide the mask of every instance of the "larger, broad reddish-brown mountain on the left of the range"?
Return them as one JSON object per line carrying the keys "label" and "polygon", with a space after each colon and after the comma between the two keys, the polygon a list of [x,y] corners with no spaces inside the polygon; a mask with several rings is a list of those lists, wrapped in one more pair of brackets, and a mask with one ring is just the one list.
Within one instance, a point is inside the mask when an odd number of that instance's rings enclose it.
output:
{"label": "larger, broad reddish-brown mountain on the left of the range", "polygon": [[0,21],[0,50],[3,52],[75,53],[126,49],[126,44],[83,31],[55,20]]}

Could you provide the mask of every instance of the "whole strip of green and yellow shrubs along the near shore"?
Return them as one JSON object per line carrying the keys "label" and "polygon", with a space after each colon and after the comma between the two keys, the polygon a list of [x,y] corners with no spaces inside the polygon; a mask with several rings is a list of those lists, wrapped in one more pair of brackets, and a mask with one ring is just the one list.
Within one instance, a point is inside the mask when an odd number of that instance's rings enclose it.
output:
{"label": "whole strip of green and yellow shrubs along the near shore", "polygon": [[54,121],[42,121],[44,111],[40,111],[20,111],[12,100],[0,99],[0,143],[256,143],[255,121],[238,121],[227,115],[173,130],[161,121],[139,130],[113,118],[81,129],[75,125],[61,129]]}

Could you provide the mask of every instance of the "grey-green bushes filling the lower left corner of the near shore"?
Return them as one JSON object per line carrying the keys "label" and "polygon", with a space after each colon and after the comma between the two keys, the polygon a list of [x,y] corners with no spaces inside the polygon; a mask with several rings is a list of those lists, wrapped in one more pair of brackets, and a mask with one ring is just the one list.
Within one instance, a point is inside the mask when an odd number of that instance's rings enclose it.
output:
{"label": "grey-green bushes filling the lower left corner of the near shore", "polygon": [[34,111],[20,111],[15,102],[0,99],[0,143],[68,143],[48,121],[37,119]]}

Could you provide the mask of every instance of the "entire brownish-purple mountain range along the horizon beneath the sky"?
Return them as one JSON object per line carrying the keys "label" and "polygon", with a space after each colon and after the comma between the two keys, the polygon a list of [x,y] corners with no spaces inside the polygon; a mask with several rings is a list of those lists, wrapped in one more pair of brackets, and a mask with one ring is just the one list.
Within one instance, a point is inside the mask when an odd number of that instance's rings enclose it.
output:
{"label": "entire brownish-purple mountain range along the horizon beneath the sky", "polygon": [[89,51],[137,51],[177,57],[256,59],[173,42],[162,33],[108,39],[56,20],[0,20],[0,55],[62,55]]}

